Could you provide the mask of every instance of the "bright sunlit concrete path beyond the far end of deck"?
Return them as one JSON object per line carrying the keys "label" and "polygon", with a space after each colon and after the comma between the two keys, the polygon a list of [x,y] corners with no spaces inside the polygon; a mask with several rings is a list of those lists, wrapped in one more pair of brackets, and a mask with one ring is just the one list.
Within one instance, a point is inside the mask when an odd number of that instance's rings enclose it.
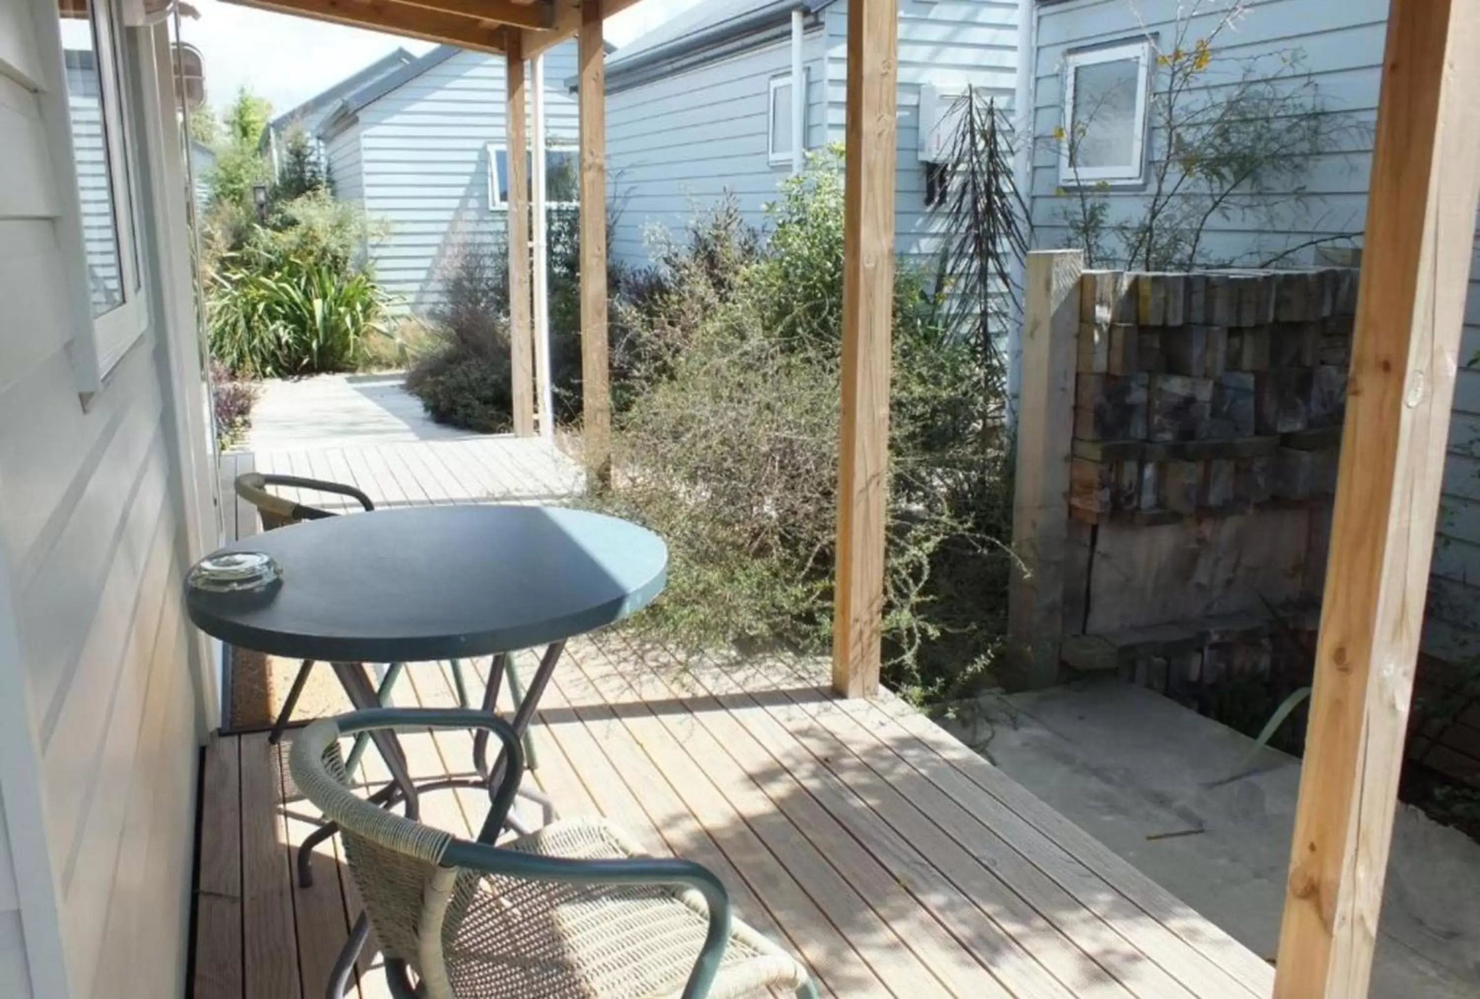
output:
{"label": "bright sunlit concrete path beyond the far end of deck", "polygon": [[262,383],[252,408],[250,451],[369,447],[485,437],[434,423],[400,371],[315,374]]}

